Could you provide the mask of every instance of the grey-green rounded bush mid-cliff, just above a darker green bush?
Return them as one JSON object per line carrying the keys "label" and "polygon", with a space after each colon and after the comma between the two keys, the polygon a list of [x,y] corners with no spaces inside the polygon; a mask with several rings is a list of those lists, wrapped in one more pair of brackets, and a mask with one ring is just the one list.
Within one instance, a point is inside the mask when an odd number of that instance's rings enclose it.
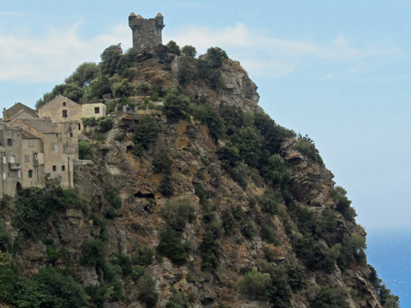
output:
{"label": "grey-green rounded bush mid-cliff, just above a darker green bush", "polygon": [[192,222],[195,218],[195,207],[187,199],[170,199],[161,209],[161,216],[167,225],[175,231],[183,231],[186,222]]}

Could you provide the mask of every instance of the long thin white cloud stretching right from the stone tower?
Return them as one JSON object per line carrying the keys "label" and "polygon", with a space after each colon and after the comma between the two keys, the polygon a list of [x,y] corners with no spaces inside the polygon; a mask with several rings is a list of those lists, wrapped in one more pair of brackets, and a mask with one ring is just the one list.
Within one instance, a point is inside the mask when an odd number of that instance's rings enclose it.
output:
{"label": "long thin white cloud stretching right from the stone tower", "polygon": [[317,60],[353,62],[400,53],[390,42],[359,48],[352,46],[343,34],[336,36],[329,44],[285,40],[262,34],[262,31],[251,29],[242,23],[222,29],[177,28],[165,41],[169,39],[175,40],[180,46],[191,44],[197,47],[199,53],[205,53],[208,47],[219,46],[229,51],[229,55],[237,57],[251,73],[272,77],[282,77],[294,72],[309,56],[314,56]]}

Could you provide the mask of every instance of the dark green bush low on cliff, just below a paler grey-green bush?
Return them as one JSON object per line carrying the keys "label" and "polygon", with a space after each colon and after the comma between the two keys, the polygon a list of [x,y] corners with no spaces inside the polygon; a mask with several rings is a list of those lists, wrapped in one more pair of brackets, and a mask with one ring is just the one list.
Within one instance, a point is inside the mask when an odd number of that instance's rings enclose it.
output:
{"label": "dark green bush low on cliff, just below a paler grey-green bush", "polygon": [[182,243],[179,233],[168,228],[160,232],[160,242],[157,246],[157,253],[162,257],[168,257],[173,264],[182,266],[188,258],[189,243]]}

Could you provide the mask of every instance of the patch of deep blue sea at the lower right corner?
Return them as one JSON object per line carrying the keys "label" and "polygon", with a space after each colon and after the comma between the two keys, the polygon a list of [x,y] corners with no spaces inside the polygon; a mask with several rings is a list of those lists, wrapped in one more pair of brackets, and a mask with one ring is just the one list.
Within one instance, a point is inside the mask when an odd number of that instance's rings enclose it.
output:
{"label": "patch of deep blue sea at the lower right corner", "polygon": [[401,308],[411,308],[411,229],[367,230],[367,261]]}

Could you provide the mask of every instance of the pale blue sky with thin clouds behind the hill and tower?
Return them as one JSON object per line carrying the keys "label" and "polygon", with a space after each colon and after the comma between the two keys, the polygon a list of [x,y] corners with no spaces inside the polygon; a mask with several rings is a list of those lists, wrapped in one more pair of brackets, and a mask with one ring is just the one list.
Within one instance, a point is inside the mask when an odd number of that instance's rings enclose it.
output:
{"label": "pale blue sky with thin clouds behind the hill and tower", "polygon": [[0,0],[0,107],[34,106],[110,44],[130,12],[163,42],[219,46],[280,125],[308,133],[367,231],[409,225],[411,1]]}

